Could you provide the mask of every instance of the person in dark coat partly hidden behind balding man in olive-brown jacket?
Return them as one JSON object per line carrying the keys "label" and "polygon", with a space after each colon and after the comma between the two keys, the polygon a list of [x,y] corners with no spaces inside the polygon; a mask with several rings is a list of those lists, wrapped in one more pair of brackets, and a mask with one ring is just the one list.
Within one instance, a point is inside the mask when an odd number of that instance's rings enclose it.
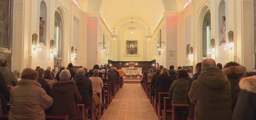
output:
{"label": "person in dark coat partly hidden behind balding man in olive-brown jacket", "polygon": [[189,113],[188,113],[188,117],[194,117],[195,115],[195,104],[192,104],[190,101],[189,101],[189,98],[188,98],[188,92],[190,91],[190,87],[192,85],[192,82],[194,80],[197,80],[198,76],[200,75],[201,73],[201,70],[202,70],[202,67],[201,67],[201,62],[197,63],[196,65],[196,71],[197,73],[194,74],[194,76],[188,81],[187,83],[187,90],[186,90],[186,99],[187,99],[187,103],[189,104]]}

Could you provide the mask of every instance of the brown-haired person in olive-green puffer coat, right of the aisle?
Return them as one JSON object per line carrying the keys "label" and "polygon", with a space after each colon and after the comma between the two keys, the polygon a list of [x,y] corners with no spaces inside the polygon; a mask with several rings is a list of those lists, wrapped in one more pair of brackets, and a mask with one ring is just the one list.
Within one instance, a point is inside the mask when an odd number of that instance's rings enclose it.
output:
{"label": "brown-haired person in olive-green puffer coat, right of the aisle", "polygon": [[179,70],[178,79],[174,80],[169,89],[171,104],[187,104],[186,90],[189,78],[187,70]]}

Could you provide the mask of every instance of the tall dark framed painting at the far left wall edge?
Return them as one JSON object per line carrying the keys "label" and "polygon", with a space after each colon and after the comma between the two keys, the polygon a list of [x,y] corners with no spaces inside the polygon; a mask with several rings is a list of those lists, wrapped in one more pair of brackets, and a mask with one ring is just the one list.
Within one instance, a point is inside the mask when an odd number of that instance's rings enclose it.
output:
{"label": "tall dark framed painting at the far left wall edge", "polygon": [[12,53],[13,0],[0,2],[0,53]]}

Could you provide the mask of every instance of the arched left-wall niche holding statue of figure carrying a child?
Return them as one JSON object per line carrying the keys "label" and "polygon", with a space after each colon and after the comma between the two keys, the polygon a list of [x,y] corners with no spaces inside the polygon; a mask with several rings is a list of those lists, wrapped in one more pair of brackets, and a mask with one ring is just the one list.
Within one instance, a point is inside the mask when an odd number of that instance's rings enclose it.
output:
{"label": "arched left-wall niche holding statue of figure carrying a child", "polygon": [[39,22],[39,44],[46,46],[47,6],[45,1],[40,2],[40,17],[43,19],[41,19]]}

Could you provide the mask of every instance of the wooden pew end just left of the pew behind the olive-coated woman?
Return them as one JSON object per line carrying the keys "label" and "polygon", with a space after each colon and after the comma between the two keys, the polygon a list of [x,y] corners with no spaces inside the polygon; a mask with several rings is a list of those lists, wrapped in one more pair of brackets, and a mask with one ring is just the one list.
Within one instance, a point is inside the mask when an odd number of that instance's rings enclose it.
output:
{"label": "wooden pew end just left of the pew behind the olive-coated woman", "polygon": [[164,97],[164,109],[162,110],[162,120],[171,119],[171,99],[169,97]]}

